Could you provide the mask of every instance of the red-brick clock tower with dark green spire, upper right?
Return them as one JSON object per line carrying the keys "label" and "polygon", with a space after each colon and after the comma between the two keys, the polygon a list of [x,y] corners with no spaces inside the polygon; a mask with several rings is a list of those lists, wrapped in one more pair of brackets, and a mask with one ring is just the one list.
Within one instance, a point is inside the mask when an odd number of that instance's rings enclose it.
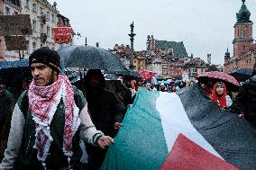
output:
{"label": "red-brick clock tower with dark green spire, upper right", "polygon": [[237,68],[252,68],[255,63],[256,44],[253,44],[251,13],[242,0],[242,7],[236,13],[234,24],[233,57],[228,50],[224,56],[224,72],[229,73]]}

